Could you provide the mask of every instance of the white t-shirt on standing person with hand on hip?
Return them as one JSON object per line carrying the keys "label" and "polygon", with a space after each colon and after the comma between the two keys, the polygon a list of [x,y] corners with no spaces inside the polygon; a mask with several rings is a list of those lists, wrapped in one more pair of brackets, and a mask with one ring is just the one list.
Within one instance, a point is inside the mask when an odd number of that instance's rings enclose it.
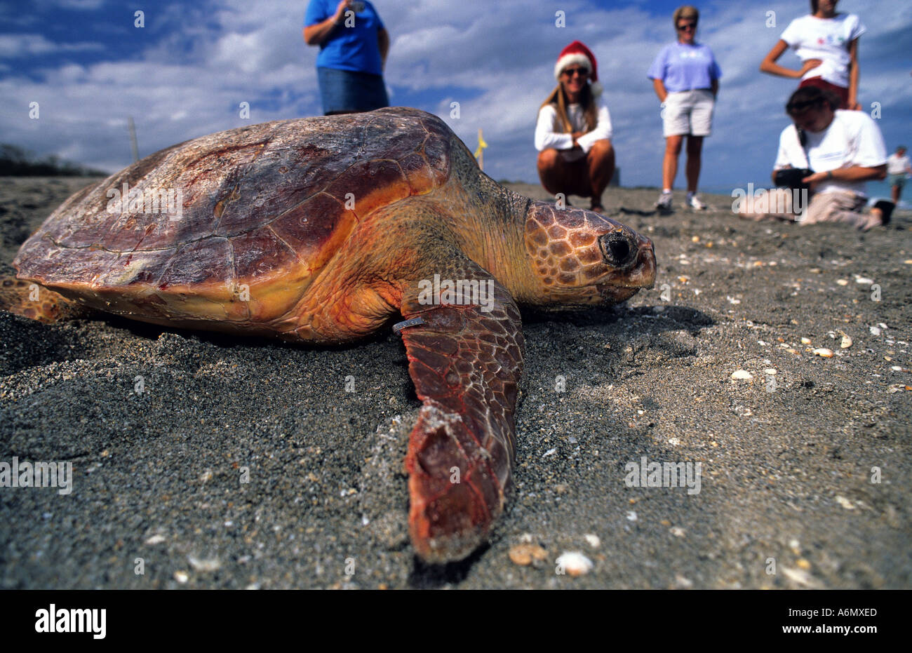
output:
{"label": "white t-shirt on standing person with hand on hip", "polygon": [[832,18],[802,16],[795,18],[782,32],[802,61],[823,59],[820,66],[804,73],[802,79],[824,78],[838,87],[849,86],[849,44],[865,33],[865,26],[855,14],[838,14]]}

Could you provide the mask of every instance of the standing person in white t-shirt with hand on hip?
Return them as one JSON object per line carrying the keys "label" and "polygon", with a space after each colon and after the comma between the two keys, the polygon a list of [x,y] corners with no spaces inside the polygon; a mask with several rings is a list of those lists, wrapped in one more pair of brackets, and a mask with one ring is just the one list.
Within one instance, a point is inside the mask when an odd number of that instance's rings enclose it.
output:
{"label": "standing person in white t-shirt with hand on hip", "polygon": [[[837,0],[811,0],[811,13],[795,18],[763,59],[762,72],[783,78],[801,78],[799,88],[815,86],[840,99],[839,109],[861,109],[858,104],[858,37],[865,26],[855,14],[837,14]],[[801,58],[798,70],[776,61],[791,47]]]}

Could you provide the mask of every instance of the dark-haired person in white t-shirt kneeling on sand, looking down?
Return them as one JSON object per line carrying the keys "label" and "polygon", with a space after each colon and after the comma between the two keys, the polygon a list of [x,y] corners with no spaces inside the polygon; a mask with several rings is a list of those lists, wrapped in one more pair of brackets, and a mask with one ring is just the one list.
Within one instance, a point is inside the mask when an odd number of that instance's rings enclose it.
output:
{"label": "dark-haired person in white t-shirt kneeling on sand, looking down", "polygon": [[[874,119],[864,111],[836,109],[839,99],[822,88],[798,88],[785,106],[793,124],[782,130],[776,172],[807,169],[796,180],[809,186],[810,203],[803,224],[848,223],[868,230],[886,224],[893,211],[889,202],[878,204],[865,215],[865,181],[886,177],[886,145]],[[802,174],[802,173],[799,173]],[[754,220],[793,220],[793,214],[744,213]]]}

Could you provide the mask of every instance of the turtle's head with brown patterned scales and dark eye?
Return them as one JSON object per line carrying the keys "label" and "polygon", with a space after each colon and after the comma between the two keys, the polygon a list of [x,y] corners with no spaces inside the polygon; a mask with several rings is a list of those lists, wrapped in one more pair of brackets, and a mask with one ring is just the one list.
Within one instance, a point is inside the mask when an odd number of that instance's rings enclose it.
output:
{"label": "turtle's head with brown patterned scales and dark eye", "polygon": [[652,241],[596,212],[533,202],[524,240],[543,305],[615,304],[656,281]]}

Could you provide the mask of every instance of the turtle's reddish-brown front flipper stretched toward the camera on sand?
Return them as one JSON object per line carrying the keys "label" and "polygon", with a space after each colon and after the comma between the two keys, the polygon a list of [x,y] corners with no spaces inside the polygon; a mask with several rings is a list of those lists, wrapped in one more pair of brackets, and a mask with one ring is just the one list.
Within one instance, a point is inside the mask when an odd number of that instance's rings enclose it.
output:
{"label": "turtle's reddish-brown front flipper stretched toward the camera on sand", "polygon": [[409,325],[397,325],[424,402],[406,458],[409,531],[430,563],[460,560],[484,542],[503,512],[515,451],[519,310],[481,267],[463,267],[416,285],[401,309]]}

